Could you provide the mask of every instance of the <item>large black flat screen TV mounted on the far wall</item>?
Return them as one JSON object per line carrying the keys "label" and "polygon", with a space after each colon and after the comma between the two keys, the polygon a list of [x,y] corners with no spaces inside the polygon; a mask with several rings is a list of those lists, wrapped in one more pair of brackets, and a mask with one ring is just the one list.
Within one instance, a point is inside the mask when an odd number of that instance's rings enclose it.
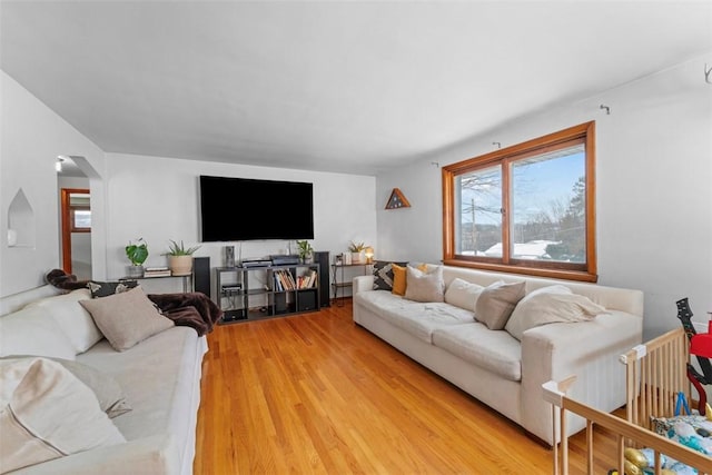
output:
{"label": "large black flat screen TV mounted on the far wall", "polygon": [[200,176],[200,240],[314,239],[313,184]]}

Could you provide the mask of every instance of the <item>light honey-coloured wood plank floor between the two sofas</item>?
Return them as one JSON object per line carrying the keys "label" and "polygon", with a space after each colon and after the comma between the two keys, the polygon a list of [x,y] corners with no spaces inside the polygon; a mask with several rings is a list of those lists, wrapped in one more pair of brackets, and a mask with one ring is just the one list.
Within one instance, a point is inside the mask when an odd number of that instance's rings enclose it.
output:
{"label": "light honey-coloured wood plank floor between the two sofas", "polygon": [[[218,326],[208,342],[196,475],[552,473],[550,448],[356,326],[348,300]],[[595,441],[605,474],[614,442]]]}

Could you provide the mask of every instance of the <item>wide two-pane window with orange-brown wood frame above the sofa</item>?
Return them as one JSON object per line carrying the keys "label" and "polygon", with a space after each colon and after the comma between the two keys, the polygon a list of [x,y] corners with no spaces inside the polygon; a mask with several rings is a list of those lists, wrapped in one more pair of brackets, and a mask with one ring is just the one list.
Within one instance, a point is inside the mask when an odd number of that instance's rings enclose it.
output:
{"label": "wide two-pane window with orange-brown wood frame above the sofa", "polygon": [[596,281],[595,122],[443,168],[444,263]]}

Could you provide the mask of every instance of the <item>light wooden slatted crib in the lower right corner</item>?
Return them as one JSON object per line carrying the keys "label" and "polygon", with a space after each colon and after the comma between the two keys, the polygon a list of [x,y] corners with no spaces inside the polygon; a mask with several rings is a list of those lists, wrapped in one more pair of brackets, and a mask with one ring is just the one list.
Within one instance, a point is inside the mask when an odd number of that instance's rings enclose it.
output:
{"label": "light wooden slatted crib in the lower right corner", "polygon": [[[584,417],[586,423],[586,467],[594,473],[595,447],[593,431],[603,427],[616,434],[616,459],[619,474],[624,472],[626,446],[649,447],[655,454],[655,474],[661,472],[661,455],[675,458],[699,471],[712,474],[712,458],[685,447],[652,431],[651,416],[671,417],[675,413],[678,395],[691,400],[691,384],[686,377],[689,340],[683,328],[668,331],[631,349],[621,356],[626,374],[626,418],[597,410],[566,396],[566,389],[575,384],[575,376],[562,382],[544,384],[544,398],[554,406],[552,429],[566,434],[566,410]],[[671,364],[671,362],[673,362]],[[558,410],[556,410],[558,408]],[[561,446],[554,446],[554,475],[568,474],[568,441],[563,437]]]}

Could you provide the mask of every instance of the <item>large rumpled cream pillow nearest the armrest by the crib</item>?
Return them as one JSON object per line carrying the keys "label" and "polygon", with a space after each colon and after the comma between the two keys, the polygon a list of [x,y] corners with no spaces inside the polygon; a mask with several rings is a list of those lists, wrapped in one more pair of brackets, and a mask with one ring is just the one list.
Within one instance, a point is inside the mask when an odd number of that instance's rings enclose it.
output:
{"label": "large rumpled cream pillow nearest the armrest by the crib", "polygon": [[577,295],[563,285],[542,287],[524,297],[507,321],[505,329],[521,340],[524,331],[560,321],[586,321],[605,314],[605,307]]}

